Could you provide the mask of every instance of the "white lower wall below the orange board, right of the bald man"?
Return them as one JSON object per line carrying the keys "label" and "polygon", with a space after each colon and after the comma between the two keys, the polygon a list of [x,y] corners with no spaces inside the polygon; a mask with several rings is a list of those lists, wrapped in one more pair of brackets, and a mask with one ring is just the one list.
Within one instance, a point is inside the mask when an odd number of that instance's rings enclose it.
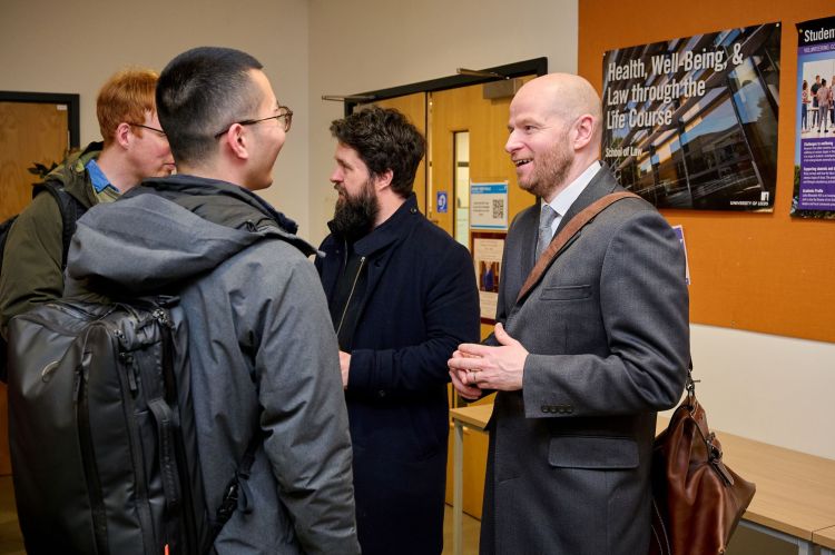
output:
{"label": "white lower wall below the orange board, right of the bald man", "polygon": [[711,427],[835,458],[835,344],[690,326]]}

